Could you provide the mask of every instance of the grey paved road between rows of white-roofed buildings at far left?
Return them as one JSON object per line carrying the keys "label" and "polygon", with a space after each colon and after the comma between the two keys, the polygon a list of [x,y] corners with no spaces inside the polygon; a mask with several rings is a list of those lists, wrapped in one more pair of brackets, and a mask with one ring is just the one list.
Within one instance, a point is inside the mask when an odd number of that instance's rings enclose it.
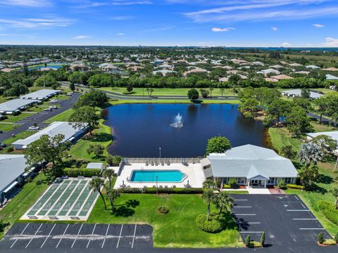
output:
{"label": "grey paved road between rows of white-roofed buildings at far left", "polygon": [[[3,142],[7,140],[8,138],[11,138],[12,134],[19,134],[22,131],[25,131],[28,129],[28,127],[32,126],[33,124],[41,125],[42,122],[46,121],[47,119],[50,119],[51,117],[54,117],[61,112],[64,112],[65,110],[68,110],[73,107],[73,104],[77,101],[77,98],[81,93],[74,93],[73,96],[71,96],[67,100],[60,100],[60,105],[58,109],[52,110],[51,112],[44,112],[44,113],[37,113],[35,115],[30,116],[30,121],[23,122],[23,124],[20,124],[20,126],[17,126],[15,129],[12,129],[11,131],[6,131],[3,134],[0,134],[0,142]],[[1,128],[1,126],[0,126]]]}

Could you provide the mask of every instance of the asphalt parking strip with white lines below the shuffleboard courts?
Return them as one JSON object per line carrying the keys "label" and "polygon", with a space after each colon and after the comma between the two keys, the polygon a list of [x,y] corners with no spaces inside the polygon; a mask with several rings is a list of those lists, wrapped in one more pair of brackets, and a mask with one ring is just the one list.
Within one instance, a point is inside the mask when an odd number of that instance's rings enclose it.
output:
{"label": "asphalt parking strip with white lines below the shuffleboard courts", "polygon": [[136,224],[17,223],[0,241],[0,251],[152,248],[152,232],[151,226]]}

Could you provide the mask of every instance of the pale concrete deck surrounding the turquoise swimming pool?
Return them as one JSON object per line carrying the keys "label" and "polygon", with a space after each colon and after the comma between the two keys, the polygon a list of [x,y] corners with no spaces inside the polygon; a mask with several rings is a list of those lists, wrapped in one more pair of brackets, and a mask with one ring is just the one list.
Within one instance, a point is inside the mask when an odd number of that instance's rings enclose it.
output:
{"label": "pale concrete deck surrounding the turquoise swimming pool", "polygon": [[182,182],[172,182],[172,183],[164,183],[164,182],[158,182],[158,187],[173,187],[176,186],[177,188],[184,188],[184,185],[187,184],[187,181],[189,180],[189,185],[193,188],[201,188],[203,185],[203,182],[205,181],[204,173],[201,168],[201,164],[188,164],[188,166],[184,166],[183,164],[175,163],[170,165],[158,165],[158,166],[151,166],[150,164],[146,166],[144,163],[132,163],[130,165],[125,165],[123,167],[123,170],[118,176],[118,179],[116,179],[116,183],[114,188],[120,188],[123,185],[123,182],[125,183],[125,186],[130,186],[130,188],[143,188],[146,187],[153,187],[156,185],[156,182],[130,182],[127,181],[127,179],[130,179],[130,176],[132,174],[133,170],[180,170],[184,174],[187,175],[187,177]]}

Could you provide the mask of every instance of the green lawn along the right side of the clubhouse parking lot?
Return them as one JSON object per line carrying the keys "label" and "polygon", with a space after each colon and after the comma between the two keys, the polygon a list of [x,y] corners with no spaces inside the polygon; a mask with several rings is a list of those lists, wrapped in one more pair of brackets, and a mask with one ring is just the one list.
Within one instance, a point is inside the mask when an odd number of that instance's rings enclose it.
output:
{"label": "green lawn along the right side of the clubhouse parking lot", "polygon": [[336,235],[338,233],[338,226],[325,218],[325,216],[318,209],[317,203],[320,200],[327,200],[334,202],[334,197],[330,190],[334,186],[338,186],[338,183],[334,183],[333,180],[337,176],[334,173],[334,163],[320,163],[318,164],[320,171],[320,180],[316,183],[318,188],[311,192],[304,190],[288,189],[288,194],[297,194],[301,197],[303,202],[311,209],[316,218],[322,223],[324,228],[331,234]]}

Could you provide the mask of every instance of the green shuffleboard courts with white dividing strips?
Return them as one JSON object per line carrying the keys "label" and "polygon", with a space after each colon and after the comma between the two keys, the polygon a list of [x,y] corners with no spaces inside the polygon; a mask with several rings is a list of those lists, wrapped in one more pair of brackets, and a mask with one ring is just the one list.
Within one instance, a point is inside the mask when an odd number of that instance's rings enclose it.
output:
{"label": "green shuffleboard courts with white dividing strips", "polygon": [[98,197],[89,188],[89,181],[65,179],[54,183],[21,219],[86,221]]}

